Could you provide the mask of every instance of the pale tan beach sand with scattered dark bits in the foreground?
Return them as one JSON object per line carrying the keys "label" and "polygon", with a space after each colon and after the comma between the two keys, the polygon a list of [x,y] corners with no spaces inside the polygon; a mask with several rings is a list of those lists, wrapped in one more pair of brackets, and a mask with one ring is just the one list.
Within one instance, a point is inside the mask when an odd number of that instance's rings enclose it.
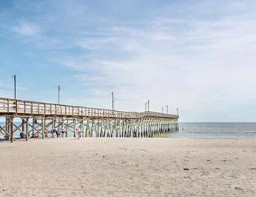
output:
{"label": "pale tan beach sand with scattered dark bits in the foreground", "polygon": [[256,141],[0,143],[0,196],[256,196]]}

